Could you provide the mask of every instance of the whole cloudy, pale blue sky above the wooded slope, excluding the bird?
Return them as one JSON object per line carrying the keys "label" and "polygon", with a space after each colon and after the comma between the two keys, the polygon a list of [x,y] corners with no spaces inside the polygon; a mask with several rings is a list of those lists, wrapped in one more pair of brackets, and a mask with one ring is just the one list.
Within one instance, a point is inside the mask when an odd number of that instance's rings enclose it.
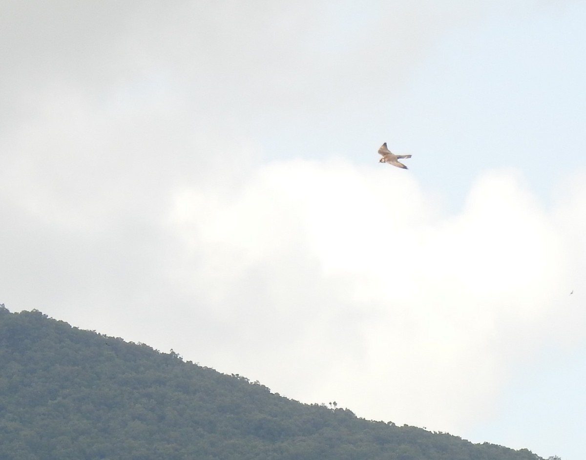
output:
{"label": "whole cloudy, pale blue sky above the wooded slope, excluding the bird", "polygon": [[1,6],[8,309],[583,458],[584,2]]}

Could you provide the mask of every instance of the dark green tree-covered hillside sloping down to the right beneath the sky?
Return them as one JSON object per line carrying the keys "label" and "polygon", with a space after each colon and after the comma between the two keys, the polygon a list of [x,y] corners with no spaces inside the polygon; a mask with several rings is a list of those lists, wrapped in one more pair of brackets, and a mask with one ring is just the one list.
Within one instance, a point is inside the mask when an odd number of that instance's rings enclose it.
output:
{"label": "dark green tree-covered hillside sloping down to the right beneath the sky", "polygon": [[0,458],[539,460],[306,405],[174,352],[0,306]]}

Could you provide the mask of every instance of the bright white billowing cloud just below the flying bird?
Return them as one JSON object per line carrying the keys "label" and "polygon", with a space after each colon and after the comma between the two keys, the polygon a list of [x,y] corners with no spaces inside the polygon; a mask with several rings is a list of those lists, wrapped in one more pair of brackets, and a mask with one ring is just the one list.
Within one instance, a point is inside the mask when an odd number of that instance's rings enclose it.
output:
{"label": "bright white billowing cloud just below the flying bird", "polygon": [[220,199],[183,190],[172,220],[186,279],[243,341],[209,360],[369,417],[477,420],[567,294],[560,229],[513,171],[445,216],[386,165],[274,162]]}

